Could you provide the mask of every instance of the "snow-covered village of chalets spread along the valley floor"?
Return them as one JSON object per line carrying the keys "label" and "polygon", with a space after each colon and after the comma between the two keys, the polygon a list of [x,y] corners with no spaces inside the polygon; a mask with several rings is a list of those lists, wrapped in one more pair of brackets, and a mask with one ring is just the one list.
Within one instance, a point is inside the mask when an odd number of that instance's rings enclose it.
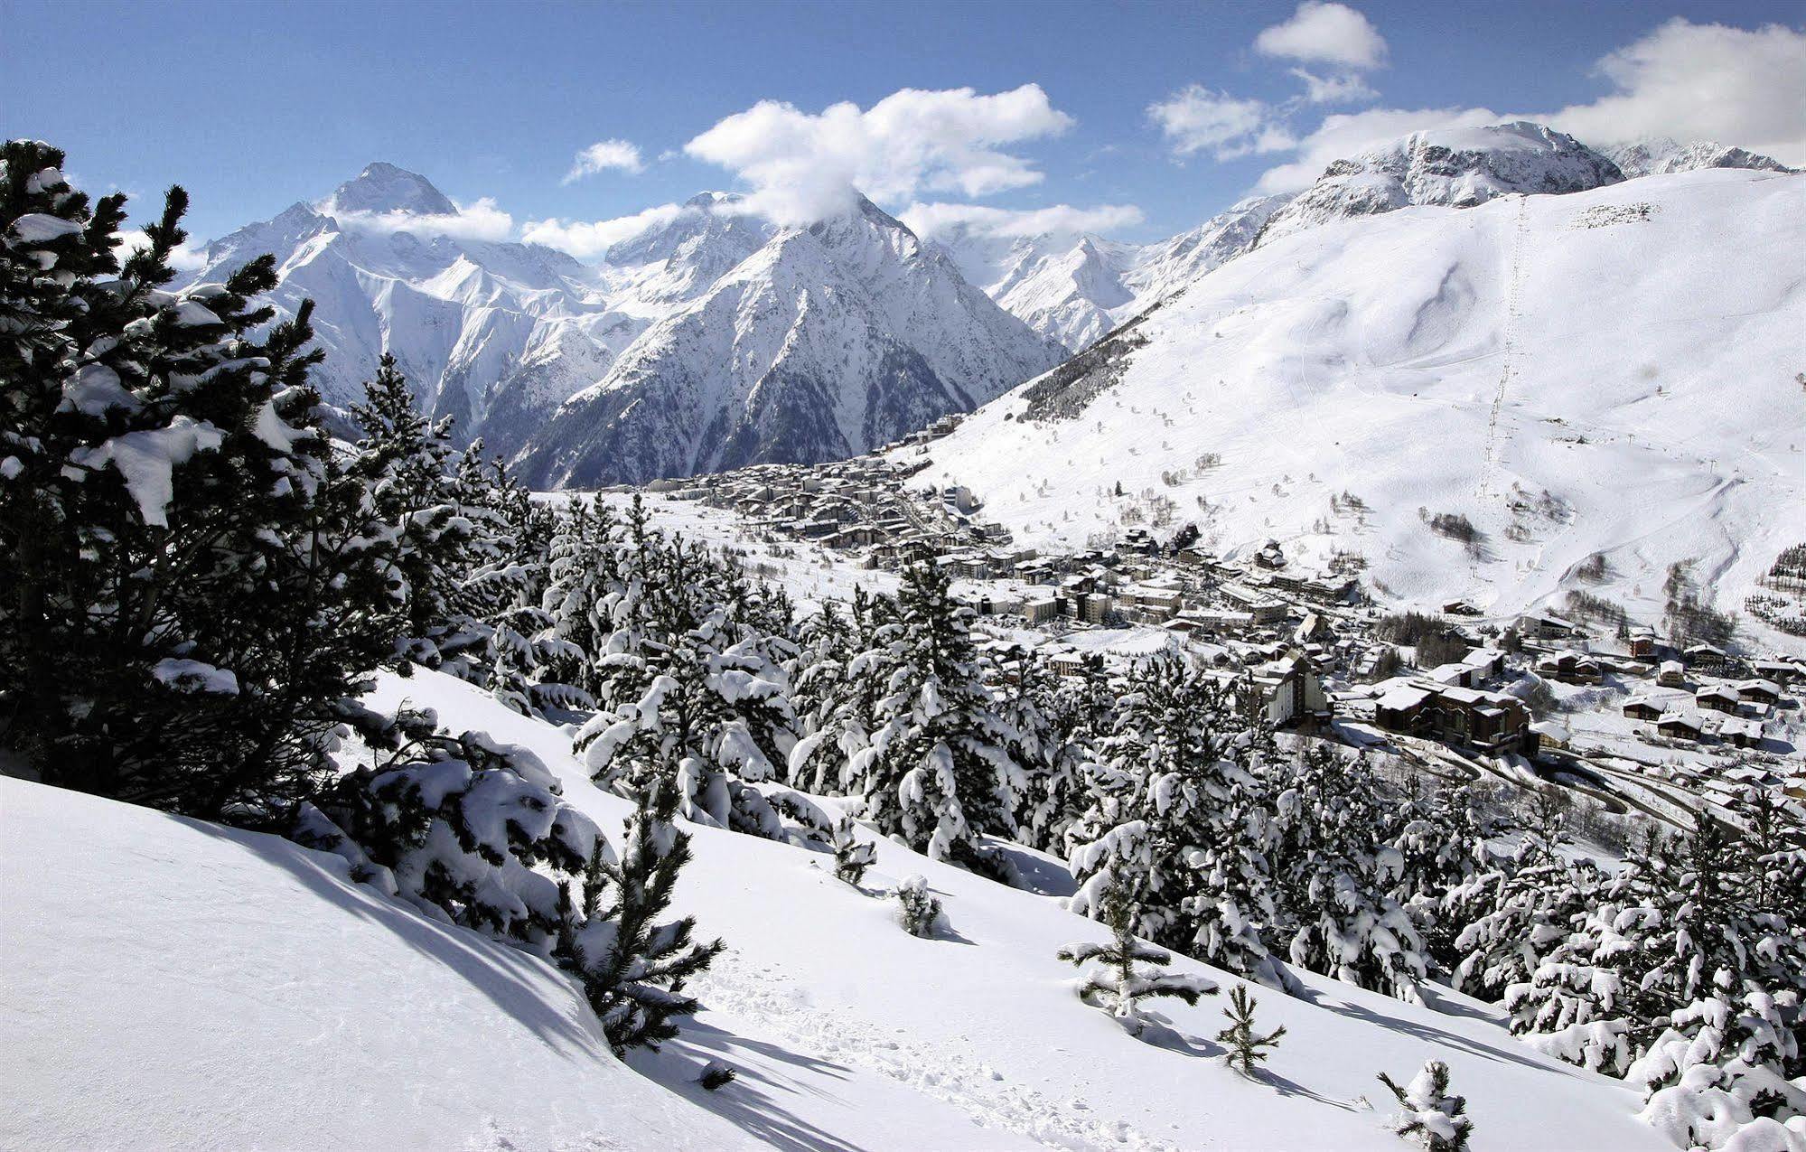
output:
{"label": "snow-covered village of chalets spread along the valley floor", "polygon": [[800,601],[894,590],[907,563],[937,563],[1002,677],[1024,657],[1084,677],[1183,654],[1252,684],[1280,733],[1448,780],[1564,784],[1602,840],[1627,827],[1615,816],[1674,823],[1752,782],[1806,802],[1806,659],[1676,645],[1584,614],[1499,619],[1465,601],[1392,610],[1362,587],[1358,563],[1302,571],[1277,542],[1223,558],[1185,527],[1165,542],[1136,525],[1098,547],[1040,553],[986,520],[977,493],[916,480],[923,464],[907,450],[959,421],[849,460],[601,498],[643,493],[654,518],[740,553]]}

